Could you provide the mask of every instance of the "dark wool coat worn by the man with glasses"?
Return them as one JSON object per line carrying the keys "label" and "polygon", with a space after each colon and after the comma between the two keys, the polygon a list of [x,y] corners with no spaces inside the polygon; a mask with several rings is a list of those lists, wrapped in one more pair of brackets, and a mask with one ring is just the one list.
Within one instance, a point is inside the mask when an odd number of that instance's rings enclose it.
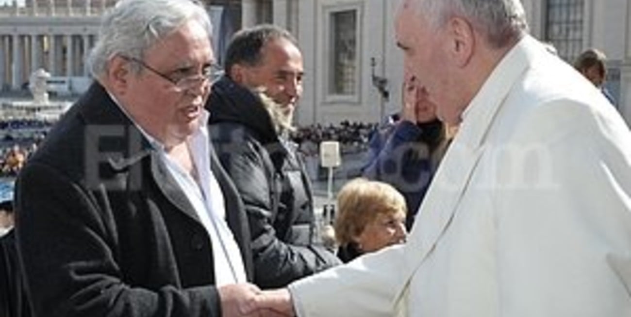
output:
{"label": "dark wool coat worn by the man with glasses", "polygon": [[[251,277],[239,196],[213,154]],[[159,153],[99,84],[16,182],[16,233],[37,316],[221,316],[211,242]]]}

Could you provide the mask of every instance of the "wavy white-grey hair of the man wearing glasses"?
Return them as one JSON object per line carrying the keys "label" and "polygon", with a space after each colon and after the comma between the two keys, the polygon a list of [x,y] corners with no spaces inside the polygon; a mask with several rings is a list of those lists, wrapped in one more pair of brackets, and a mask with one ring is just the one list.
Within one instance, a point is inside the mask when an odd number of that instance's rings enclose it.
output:
{"label": "wavy white-grey hair of the man wearing glasses", "polygon": [[[189,21],[197,21],[212,35],[208,13],[196,0],[122,0],[103,16],[98,41],[88,64],[93,77],[107,71],[116,55],[142,60],[146,50]],[[140,66],[132,64],[132,71]]]}

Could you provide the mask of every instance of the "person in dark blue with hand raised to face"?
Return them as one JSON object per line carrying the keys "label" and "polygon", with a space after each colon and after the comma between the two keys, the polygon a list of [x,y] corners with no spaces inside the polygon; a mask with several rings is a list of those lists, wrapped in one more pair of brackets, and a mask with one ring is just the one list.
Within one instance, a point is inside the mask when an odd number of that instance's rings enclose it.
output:
{"label": "person in dark blue with hand raised to face", "polygon": [[408,70],[402,96],[401,111],[372,134],[362,176],[391,184],[403,194],[406,228],[411,230],[453,130],[437,118],[436,104]]}

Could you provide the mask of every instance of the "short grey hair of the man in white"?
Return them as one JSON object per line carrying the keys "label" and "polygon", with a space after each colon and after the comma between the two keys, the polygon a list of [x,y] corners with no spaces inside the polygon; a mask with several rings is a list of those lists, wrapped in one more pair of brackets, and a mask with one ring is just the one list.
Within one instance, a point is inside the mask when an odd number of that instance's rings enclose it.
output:
{"label": "short grey hair of the man in white", "polygon": [[440,28],[453,16],[468,18],[496,48],[509,45],[528,32],[520,0],[417,0],[430,25]]}

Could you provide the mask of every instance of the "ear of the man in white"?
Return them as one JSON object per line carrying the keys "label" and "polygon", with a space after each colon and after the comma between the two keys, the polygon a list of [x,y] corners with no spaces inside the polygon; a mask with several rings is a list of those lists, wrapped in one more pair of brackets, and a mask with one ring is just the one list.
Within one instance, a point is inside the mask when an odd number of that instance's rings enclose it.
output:
{"label": "ear of the man in white", "polygon": [[451,37],[449,52],[459,67],[466,66],[475,50],[475,30],[469,21],[454,17],[447,25],[448,35]]}

